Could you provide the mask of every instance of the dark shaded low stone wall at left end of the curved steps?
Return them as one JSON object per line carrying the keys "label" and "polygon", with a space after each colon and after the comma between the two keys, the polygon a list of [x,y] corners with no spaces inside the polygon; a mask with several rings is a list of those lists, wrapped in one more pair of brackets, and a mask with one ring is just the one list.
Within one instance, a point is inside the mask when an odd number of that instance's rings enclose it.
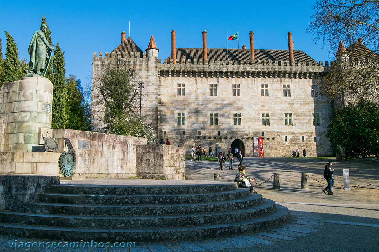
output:
{"label": "dark shaded low stone wall at left end of the curved steps", "polygon": [[26,211],[26,203],[59,182],[57,176],[0,176],[0,210]]}

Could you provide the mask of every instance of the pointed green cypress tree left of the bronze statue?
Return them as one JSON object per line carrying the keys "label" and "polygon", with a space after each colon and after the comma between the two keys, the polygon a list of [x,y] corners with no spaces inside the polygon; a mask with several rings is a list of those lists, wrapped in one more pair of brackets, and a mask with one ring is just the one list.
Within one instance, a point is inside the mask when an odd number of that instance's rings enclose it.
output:
{"label": "pointed green cypress tree left of the bronze statue", "polygon": [[13,37],[7,31],[6,36],[6,50],[4,61],[4,75],[3,82],[17,81],[22,78],[24,73],[22,72],[21,62],[19,59],[19,50]]}

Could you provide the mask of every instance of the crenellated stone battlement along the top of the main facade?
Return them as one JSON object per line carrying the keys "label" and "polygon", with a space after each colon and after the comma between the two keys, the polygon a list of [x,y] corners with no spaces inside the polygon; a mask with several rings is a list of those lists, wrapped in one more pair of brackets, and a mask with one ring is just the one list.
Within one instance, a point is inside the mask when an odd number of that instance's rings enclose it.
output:
{"label": "crenellated stone battlement along the top of the main facade", "polygon": [[[172,61],[172,60],[171,60]],[[166,60],[165,60],[166,62]],[[196,60],[195,60],[196,62]],[[171,62],[168,62],[171,63]],[[183,63],[183,64],[181,64]],[[238,64],[237,61],[232,62],[207,61],[206,64],[202,62],[179,62],[177,64],[163,64],[159,65],[159,76],[161,77],[235,77],[235,78],[313,78],[316,73],[324,72],[323,62],[292,62],[287,64],[278,61],[263,61],[263,62],[243,62]],[[207,64],[208,63],[208,64]],[[257,64],[255,64],[257,63]],[[327,62],[326,62],[327,65]]]}

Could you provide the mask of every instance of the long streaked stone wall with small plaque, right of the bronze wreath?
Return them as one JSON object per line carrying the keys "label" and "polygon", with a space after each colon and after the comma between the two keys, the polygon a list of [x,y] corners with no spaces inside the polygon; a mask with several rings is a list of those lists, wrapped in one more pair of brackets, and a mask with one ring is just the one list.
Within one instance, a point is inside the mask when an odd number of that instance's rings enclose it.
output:
{"label": "long streaked stone wall with small plaque, right of the bronze wreath", "polygon": [[[61,152],[67,151],[63,137],[70,139],[77,158],[75,176],[83,177],[136,176],[136,146],[147,144],[146,138],[73,129],[54,129],[53,135]],[[80,149],[79,141],[88,149]]]}

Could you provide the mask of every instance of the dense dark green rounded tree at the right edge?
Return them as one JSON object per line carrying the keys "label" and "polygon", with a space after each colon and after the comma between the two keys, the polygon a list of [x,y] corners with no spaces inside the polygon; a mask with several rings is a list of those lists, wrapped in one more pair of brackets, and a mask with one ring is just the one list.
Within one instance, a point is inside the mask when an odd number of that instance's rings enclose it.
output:
{"label": "dense dark green rounded tree at the right edge", "polygon": [[336,110],[326,137],[345,149],[348,157],[379,155],[379,106],[360,101]]}

